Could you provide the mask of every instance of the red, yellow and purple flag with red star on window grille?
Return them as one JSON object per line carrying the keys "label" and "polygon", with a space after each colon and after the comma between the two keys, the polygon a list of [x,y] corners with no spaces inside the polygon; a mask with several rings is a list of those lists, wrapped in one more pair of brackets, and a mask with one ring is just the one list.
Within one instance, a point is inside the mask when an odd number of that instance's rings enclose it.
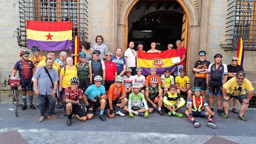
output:
{"label": "red, yellow and purple flag with red star on window grille", "polygon": [[33,45],[43,51],[72,48],[72,22],[38,22],[27,20],[27,48]]}

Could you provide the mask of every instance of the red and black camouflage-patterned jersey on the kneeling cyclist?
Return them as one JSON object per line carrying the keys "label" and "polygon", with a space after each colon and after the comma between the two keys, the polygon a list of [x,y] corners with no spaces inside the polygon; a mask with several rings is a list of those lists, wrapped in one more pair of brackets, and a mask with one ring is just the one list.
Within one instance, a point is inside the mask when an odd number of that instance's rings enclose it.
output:
{"label": "red and black camouflage-patterned jersey on the kneeling cyclist", "polygon": [[82,96],[83,90],[81,88],[77,88],[76,91],[73,91],[71,87],[65,88],[65,99],[80,101]]}

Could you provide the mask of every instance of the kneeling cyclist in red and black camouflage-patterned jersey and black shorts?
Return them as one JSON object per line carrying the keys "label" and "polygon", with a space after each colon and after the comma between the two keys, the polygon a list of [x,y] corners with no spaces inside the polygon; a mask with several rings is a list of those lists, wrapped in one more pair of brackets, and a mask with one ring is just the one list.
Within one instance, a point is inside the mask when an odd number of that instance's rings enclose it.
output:
{"label": "kneeling cyclist in red and black camouflage-patterned jersey and black shorts", "polygon": [[80,100],[83,96],[83,90],[78,88],[79,79],[73,77],[70,79],[71,86],[65,89],[65,102],[63,109],[67,111],[67,125],[71,125],[72,114],[76,114],[77,118],[86,121],[86,113],[81,109]]}

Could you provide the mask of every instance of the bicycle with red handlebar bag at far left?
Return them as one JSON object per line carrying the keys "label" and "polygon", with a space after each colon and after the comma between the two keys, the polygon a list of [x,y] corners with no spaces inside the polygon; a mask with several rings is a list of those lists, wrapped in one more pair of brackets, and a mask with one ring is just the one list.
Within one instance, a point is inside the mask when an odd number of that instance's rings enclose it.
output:
{"label": "bicycle with red handlebar bag at far left", "polygon": [[9,79],[4,80],[4,87],[6,87],[6,83],[8,82],[8,85],[10,86],[11,90],[13,91],[12,94],[9,94],[8,96],[12,96],[12,103],[14,104],[14,112],[15,115],[18,116],[18,106],[23,106],[22,104],[19,104],[19,93],[18,93],[18,87],[23,83],[22,79],[19,77],[12,78],[9,75]]}

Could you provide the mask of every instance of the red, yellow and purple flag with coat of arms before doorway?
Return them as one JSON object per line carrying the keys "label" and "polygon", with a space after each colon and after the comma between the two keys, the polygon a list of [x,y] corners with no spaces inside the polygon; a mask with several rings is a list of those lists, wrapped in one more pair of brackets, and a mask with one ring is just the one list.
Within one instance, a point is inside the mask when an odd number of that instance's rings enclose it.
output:
{"label": "red, yellow and purple flag with coat of arms before doorway", "polygon": [[164,69],[170,68],[171,73],[176,71],[176,65],[172,63],[171,58],[176,57],[176,50],[171,49],[167,51],[161,51],[156,53],[145,53],[138,51],[137,65],[142,68],[142,75],[150,75],[150,68],[157,68],[157,75],[161,76],[164,73]]}

